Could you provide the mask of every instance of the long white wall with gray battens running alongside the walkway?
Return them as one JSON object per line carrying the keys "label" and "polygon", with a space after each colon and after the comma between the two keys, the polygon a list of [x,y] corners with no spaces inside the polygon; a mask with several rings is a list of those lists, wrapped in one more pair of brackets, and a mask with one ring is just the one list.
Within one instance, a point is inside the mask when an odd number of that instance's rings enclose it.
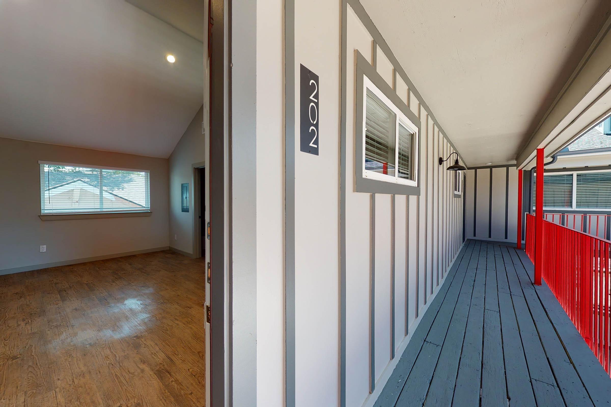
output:
{"label": "long white wall with gray battens running alongside the walkway", "polygon": [[[371,22],[362,21],[364,13],[357,2],[346,4],[340,406],[373,405],[463,244],[463,199],[453,196],[450,162],[437,162],[452,145],[384,53],[377,30],[371,33]],[[355,191],[357,51],[420,119],[420,196]],[[298,398],[298,405],[311,401]]]}

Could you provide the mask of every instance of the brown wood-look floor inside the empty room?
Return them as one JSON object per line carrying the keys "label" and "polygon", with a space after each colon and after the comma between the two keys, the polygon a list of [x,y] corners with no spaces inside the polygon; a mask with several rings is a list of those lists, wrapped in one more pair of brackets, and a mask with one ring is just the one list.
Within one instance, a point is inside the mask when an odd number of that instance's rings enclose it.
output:
{"label": "brown wood-look floor inside the empty room", "polygon": [[0,406],[205,405],[203,260],[0,276]]}

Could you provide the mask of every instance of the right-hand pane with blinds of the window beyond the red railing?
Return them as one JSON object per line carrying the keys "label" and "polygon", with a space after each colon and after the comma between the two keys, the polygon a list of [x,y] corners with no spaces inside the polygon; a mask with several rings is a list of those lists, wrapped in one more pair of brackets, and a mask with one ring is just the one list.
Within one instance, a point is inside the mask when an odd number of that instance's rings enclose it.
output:
{"label": "right-hand pane with blinds of the window beyond the red railing", "polygon": [[611,172],[578,173],[576,207],[611,209]]}

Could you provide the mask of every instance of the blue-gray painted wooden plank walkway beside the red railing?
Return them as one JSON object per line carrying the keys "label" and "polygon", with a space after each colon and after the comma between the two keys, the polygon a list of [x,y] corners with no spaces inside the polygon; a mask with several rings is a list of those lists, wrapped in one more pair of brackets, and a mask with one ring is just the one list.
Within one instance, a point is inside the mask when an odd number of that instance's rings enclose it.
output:
{"label": "blue-gray painted wooden plank walkway beside the red railing", "polygon": [[611,379],[522,250],[469,240],[375,407],[611,406]]}

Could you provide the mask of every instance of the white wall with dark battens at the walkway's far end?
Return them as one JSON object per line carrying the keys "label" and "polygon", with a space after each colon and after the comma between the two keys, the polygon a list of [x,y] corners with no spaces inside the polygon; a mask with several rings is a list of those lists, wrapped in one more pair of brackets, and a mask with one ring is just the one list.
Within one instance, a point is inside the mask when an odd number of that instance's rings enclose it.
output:
{"label": "white wall with dark battens at the walkway's far end", "polygon": [[517,241],[518,170],[515,166],[466,171],[467,239]]}

